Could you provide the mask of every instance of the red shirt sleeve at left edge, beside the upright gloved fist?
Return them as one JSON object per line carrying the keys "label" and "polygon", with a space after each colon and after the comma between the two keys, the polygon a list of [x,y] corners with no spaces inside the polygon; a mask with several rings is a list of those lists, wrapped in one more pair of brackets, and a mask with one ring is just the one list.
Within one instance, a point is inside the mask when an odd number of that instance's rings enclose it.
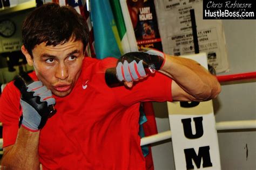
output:
{"label": "red shirt sleeve at left edge, beside the upright gloved fist", "polygon": [[13,81],[6,85],[1,95],[0,122],[3,126],[3,147],[15,144],[21,116],[20,97],[21,93]]}

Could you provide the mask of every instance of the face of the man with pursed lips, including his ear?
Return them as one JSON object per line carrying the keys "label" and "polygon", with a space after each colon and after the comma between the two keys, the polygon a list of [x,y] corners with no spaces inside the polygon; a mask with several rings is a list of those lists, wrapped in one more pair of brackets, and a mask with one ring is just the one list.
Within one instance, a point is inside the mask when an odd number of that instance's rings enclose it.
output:
{"label": "face of the man with pursed lips, including his ear", "polygon": [[[68,41],[63,45],[45,46],[45,42],[32,50],[33,59],[23,49],[29,65],[43,84],[59,97],[70,94],[81,72],[84,59],[82,41]],[[29,55],[29,56],[27,56]]]}

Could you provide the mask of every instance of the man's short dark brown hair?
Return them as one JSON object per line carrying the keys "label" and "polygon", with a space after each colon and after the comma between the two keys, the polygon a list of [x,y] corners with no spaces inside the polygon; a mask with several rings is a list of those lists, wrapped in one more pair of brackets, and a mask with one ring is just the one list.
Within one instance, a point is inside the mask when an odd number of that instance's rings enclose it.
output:
{"label": "man's short dark brown hair", "polygon": [[23,45],[32,56],[36,45],[64,44],[71,38],[81,40],[84,49],[89,41],[89,30],[85,19],[70,6],[48,3],[32,11],[22,25]]}

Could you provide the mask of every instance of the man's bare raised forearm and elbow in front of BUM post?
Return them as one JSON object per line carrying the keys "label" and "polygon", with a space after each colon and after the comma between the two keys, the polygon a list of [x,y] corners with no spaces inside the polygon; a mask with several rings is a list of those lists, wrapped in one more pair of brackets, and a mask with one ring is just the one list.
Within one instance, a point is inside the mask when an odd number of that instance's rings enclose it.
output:
{"label": "man's bare raised forearm and elbow in front of BUM post", "polygon": [[220,84],[196,61],[166,55],[164,66],[159,72],[170,76],[187,94],[191,101],[205,101],[220,93]]}

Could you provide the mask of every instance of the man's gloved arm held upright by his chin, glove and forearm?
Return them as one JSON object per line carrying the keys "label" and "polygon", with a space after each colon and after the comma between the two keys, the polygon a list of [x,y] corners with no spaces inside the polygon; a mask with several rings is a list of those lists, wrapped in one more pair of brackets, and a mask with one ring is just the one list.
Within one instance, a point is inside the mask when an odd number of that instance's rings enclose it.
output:
{"label": "man's gloved arm held upright by his chin, glove and forearm", "polygon": [[[17,77],[14,84],[21,91],[21,128],[15,144],[4,147],[2,166],[4,169],[39,169],[39,130],[55,114],[55,99],[41,81],[33,82],[28,75]],[[8,124],[4,124],[3,130],[10,133]]]}

